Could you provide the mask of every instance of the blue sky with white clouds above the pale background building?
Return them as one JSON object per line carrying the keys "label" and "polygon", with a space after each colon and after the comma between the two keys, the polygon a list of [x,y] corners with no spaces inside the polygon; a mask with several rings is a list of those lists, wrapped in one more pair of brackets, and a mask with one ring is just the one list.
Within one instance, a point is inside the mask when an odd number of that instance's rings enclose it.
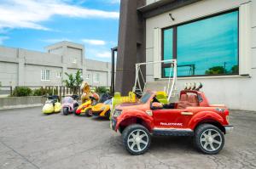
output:
{"label": "blue sky with white clouds above the pale background building", "polygon": [[55,42],[84,44],[85,57],[110,61],[119,0],[0,0],[0,45],[44,52]]}

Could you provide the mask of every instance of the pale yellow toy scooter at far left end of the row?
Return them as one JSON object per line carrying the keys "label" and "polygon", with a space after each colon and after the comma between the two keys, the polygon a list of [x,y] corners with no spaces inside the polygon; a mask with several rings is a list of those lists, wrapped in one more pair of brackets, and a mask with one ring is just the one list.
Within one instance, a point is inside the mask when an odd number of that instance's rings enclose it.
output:
{"label": "pale yellow toy scooter at far left end of the row", "polygon": [[61,112],[61,103],[59,96],[49,96],[44,103],[42,112],[44,114],[52,114]]}

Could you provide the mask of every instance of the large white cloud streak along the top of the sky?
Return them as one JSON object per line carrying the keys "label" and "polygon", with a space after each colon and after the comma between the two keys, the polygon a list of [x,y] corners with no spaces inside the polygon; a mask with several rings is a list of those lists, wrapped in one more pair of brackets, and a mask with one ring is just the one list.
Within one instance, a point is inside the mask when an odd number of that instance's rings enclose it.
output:
{"label": "large white cloud streak along the top of the sky", "polygon": [[40,22],[49,20],[53,15],[76,18],[118,19],[118,12],[83,8],[69,4],[66,0],[2,0],[0,3],[0,29],[31,28],[49,30]]}

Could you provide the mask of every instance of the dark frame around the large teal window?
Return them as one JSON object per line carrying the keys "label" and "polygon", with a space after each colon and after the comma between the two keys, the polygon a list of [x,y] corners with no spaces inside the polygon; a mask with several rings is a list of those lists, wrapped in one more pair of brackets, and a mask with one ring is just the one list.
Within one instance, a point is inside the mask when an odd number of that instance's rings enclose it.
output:
{"label": "dark frame around the large teal window", "polygon": [[[239,67],[240,67],[240,60],[239,60],[239,47],[240,47],[240,37],[239,37],[239,8],[233,8],[233,9],[230,9],[230,10],[226,10],[226,11],[223,11],[223,12],[218,12],[216,14],[210,14],[210,15],[207,15],[207,16],[203,16],[203,17],[200,17],[200,18],[196,18],[194,20],[189,20],[189,21],[184,21],[182,23],[179,23],[177,25],[171,25],[171,26],[166,26],[166,27],[163,27],[161,29],[161,59],[164,60],[164,31],[168,30],[168,29],[172,29],[173,32],[172,32],[172,59],[177,59],[177,27],[180,26],[180,25],[187,25],[187,24],[190,24],[190,23],[194,23],[194,22],[197,22],[197,21],[200,21],[200,20],[206,20],[206,19],[209,19],[209,18],[212,18],[212,17],[215,17],[215,16],[219,16],[219,15],[222,15],[222,14],[229,14],[229,13],[232,13],[232,12],[235,12],[237,11],[237,65],[238,65],[238,71],[237,73],[232,73],[232,74],[218,74],[218,75],[194,75],[194,76],[177,76],[177,77],[200,77],[200,76],[234,76],[234,75],[239,75]],[[171,64],[165,64],[164,62],[161,64],[161,78],[168,78],[167,76],[165,76],[164,74],[164,70],[165,68],[170,68],[171,67]]]}

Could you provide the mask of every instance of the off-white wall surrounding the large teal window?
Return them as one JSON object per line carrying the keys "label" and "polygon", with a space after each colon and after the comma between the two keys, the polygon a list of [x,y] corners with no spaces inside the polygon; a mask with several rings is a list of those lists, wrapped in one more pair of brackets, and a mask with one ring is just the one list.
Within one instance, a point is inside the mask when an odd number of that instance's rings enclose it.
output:
{"label": "off-white wall surrounding the large teal window", "polygon": [[[149,1],[148,1],[149,3]],[[150,2],[151,3],[151,2]],[[170,25],[201,18],[209,14],[216,14],[231,8],[241,8],[246,3],[246,19],[240,19],[240,61],[243,69],[249,76],[215,76],[215,77],[187,77],[178,78],[177,89],[183,88],[185,82],[202,82],[203,91],[211,104],[226,104],[230,109],[236,110],[256,110],[256,1],[248,0],[203,0],[192,3],[183,8],[172,10],[175,21],[170,20],[169,13],[160,14],[146,21],[146,61],[155,60],[154,49],[157,47],[154,39],[154,28],[164,28]],[[240,11],[241,14],[241,11]],[[247,21],[247,24],[245,24]],[[247,25],[247,30],[245,30]],[[158,42],[160,42],[158,40]],[[241,64],[241,63],[240,63]],[[147,68],[147,81],[165,81],[164,79],[154,79],[154,68]]]}

